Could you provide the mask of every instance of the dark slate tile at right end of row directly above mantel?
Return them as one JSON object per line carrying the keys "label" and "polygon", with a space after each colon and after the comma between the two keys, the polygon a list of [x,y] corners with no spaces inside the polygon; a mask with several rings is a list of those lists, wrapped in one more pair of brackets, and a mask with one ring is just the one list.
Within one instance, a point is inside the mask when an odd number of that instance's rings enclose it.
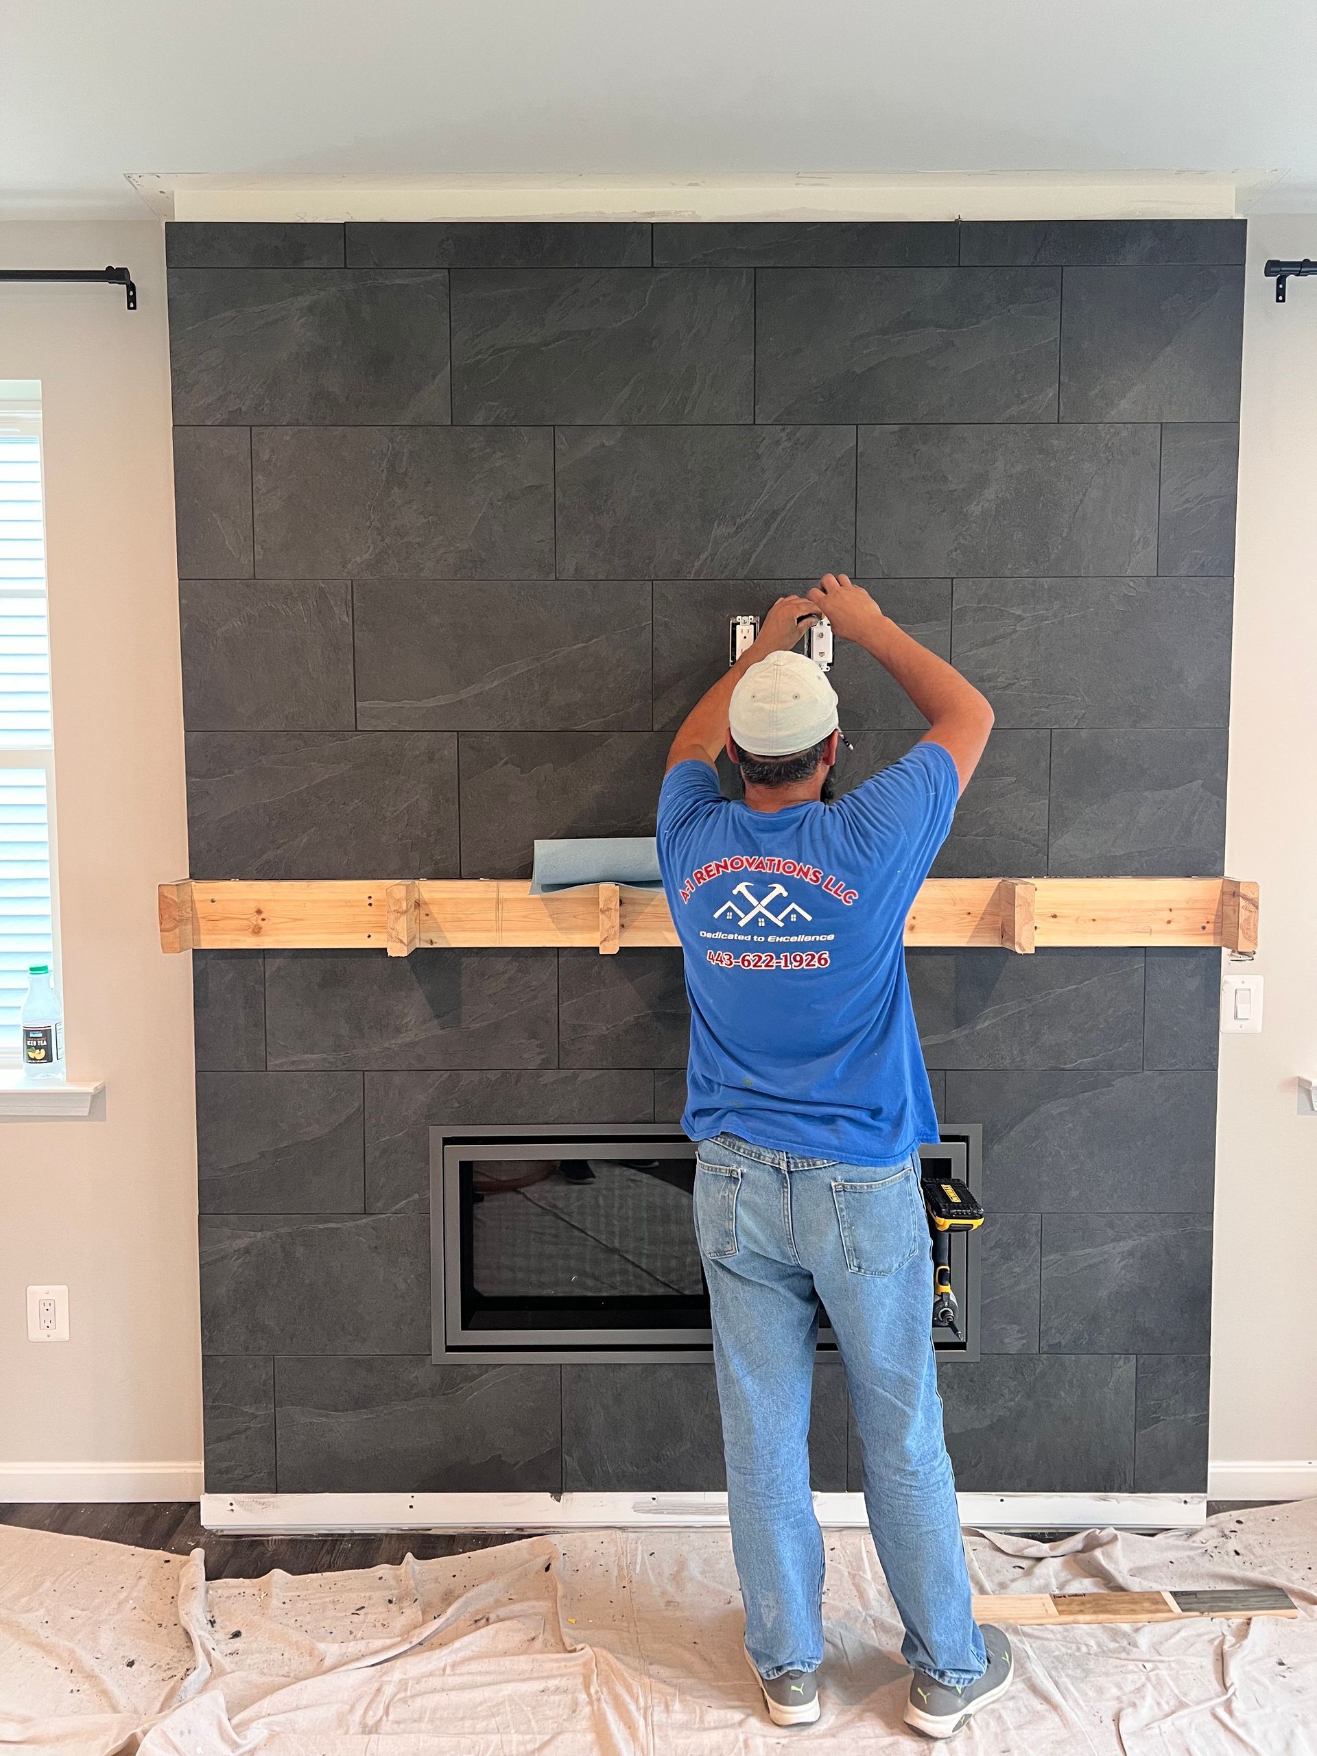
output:
{"label": "dark slate tile at right end of row directly above mantel", "polygon": [[1052,874],[1215,876],[1224,838],[1224,727],[1052,734]]}

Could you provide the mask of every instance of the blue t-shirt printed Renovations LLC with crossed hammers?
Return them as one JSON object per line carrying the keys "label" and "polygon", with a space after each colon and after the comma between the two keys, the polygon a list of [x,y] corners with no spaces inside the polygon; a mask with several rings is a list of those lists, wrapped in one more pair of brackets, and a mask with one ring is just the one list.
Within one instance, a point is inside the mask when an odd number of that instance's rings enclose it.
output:
{"label": "blue t-shirt printed Renovations LLC with crossed hammers", "polygon": [[906,915],[961,783],[915,745],[838,804],[752,811],[708,762],[658,795],[658,864],[687,961],[681,1126],[848,1164],[938,1140],[910,1004]]}

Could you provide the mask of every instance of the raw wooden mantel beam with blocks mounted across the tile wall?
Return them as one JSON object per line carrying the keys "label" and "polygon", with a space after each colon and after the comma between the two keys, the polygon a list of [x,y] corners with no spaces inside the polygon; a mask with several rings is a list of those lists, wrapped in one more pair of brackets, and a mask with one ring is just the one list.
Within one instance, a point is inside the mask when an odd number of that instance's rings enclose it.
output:
{"label": "raw wooden mantel beam with blocks mounted across the tile wall", "polygon": [[[530,896],[525,878],[204,880],[160,885],[160,946],[188,950],[676,945],[667,897],[625,885]],[[906,945],[1224,945],[1257,948],[1240,878],[929,878]]]}

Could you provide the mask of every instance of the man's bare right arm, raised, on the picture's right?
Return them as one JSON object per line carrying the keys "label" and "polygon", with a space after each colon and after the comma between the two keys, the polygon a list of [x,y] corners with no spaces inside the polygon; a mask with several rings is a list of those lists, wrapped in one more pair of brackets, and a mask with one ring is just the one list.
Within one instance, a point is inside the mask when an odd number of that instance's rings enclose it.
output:
{"label": "man's bare right arm, raised, on the picture's right", "polygon": [[845,572],[825,572],[810,592],[810,602],[827,616],[834,634],[855,641],[890,671],[929,722],[920,741],[941,745],[952,753],[964,792],[992,730],[987,695],[899,629]]}

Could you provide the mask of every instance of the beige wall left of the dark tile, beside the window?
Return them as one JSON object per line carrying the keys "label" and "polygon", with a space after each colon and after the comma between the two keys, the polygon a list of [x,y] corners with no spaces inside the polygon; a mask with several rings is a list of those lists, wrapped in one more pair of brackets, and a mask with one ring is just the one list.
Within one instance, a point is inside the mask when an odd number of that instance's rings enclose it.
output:
{"label": "beige wall left of the dark tile, beside the window", "polygon": [[[118,288],[0,291],[0,378],[44,397],[68,1075],[107,1087],[86,1122],[0,1122],[0,1500],[44,1465],[93,1472],[44,1472],[49,1498],[169,1498],[184,1475],[105,1466],[200,1457],[191,959],[155,931],[188,869],[163,239],[0,225],[5,267],[107,262],[135,314]],[[30,1282],[68,1285],[67,1345],[26,1340]]]}

